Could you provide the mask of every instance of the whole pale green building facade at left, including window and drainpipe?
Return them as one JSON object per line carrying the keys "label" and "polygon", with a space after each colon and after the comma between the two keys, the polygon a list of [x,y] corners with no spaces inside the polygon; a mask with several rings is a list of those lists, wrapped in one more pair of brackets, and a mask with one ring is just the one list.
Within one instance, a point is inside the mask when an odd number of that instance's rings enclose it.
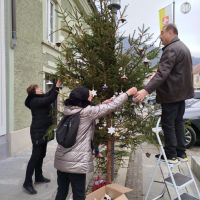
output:
{"label": "whole pale green building facade at left, including window and drainpipe", "polygon": [[0,148],[7,155],[31,145],[26,88],[36,83],[45,91],[48,74],[55,72],[61,56],[56,43],[63,39],[56,31],[61,26],[59,6],[92,12],[88,0],[0,1]]}

